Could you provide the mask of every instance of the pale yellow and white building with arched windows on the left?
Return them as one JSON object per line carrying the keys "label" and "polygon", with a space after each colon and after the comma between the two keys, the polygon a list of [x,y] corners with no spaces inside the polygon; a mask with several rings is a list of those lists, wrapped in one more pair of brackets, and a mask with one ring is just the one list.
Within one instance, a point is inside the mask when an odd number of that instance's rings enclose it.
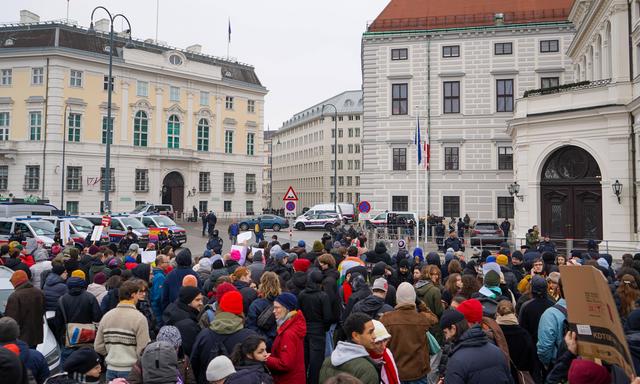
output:
{"label": "pale yellow and white building with arched windows on the left", "polygon": [[91,34],[28,11],[21,17],[0,26],[2,195],[102,211],[111,84],[112,211],[144,202],[218,217],[261,211],[267,90],[252,66],[199,45],[182,50],[120,33],[109,81],[107,20]]}

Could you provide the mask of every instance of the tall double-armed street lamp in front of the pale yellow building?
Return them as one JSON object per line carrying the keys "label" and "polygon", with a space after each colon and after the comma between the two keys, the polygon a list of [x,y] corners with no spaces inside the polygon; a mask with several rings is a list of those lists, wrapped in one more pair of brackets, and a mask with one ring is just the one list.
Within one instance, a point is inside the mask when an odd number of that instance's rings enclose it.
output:
{"label": "tall double-armed street lamp in front of the pale yellow building", "polygon": [[95,7],[93,11],[91,11],[91,24],[89,24],[89,32],[95,32],[93,28],[93,15],[98,10],[104,10],[107,15],[109,15],[109,77],[107,78],[107,138],[106,138],[106,155],[105,155],[105,170],[104,170],[104,212],[111,212],[111,204],[109,204],[109,190],[111,189],[111,140],[113,138],[113,124],[111,122],[111,94],[113,93],[113,22],[114,20],[120,16],[122,17],[129,26],[129,41],[131,41],[131,23],[129,19],[121,13],[111,15],[109,10],[101,5]]}

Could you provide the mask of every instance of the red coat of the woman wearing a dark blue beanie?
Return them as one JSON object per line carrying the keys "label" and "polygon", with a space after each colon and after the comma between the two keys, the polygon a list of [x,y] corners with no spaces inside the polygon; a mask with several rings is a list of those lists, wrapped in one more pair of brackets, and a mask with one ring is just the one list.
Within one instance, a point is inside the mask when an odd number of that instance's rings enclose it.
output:
{"label": "red coat of the woman wearing a dark blue beanie", "polygon": [[304,336],[307,323],[301,311],[285,321],[278,328],[278,334],[271,347],[267,367],[275,384],[306,384],[304,368]]}

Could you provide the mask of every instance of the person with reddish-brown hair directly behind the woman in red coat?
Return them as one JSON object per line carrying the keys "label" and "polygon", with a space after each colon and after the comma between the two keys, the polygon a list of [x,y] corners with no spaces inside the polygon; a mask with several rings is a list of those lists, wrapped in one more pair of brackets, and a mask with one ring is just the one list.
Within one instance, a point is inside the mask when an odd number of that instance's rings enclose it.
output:
{"label": "person with reddish-brown hair directly behind the woman in red coat", "polygon": [[257,300],[249,306],[246,327],[254,330],[267,341],[267,350],[271,350],[276,338],[276,318],[273,314],[273,301],[282,293],[280,279],[274,272],[265,272],[260,278]]}

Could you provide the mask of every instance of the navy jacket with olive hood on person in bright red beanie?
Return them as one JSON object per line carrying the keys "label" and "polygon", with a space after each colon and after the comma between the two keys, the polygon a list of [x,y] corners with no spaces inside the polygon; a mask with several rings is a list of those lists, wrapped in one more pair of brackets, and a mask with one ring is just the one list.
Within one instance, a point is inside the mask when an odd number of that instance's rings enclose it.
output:
{"label": "navy jacket with olive hood on person in bright red beanie", "polygon": [[[256,333],[244,328],[242,317],[228,312],[216,313],[209,328],[198,333],[191,354],[189,355],[191,367],[198,384],[208,384],[206,372],[209,362],[217,355],[212,356],[212,351],[226,350],[229,356],[236,345],[241,344],[247,337]],[[221,347],[224,345],[224,347]]]}

